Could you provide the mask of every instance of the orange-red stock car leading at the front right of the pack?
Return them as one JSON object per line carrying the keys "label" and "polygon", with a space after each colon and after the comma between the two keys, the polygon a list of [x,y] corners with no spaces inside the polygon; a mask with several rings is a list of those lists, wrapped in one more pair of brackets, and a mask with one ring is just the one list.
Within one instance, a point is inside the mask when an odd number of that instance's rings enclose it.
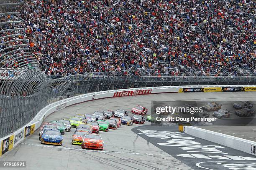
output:
{"label": "orange-red stock car leading at the front right of the pack", "polygon": [[81,147],[83,149],[99,149],[103,150],[104,142],[100,135],[86,134],[82,140]]}

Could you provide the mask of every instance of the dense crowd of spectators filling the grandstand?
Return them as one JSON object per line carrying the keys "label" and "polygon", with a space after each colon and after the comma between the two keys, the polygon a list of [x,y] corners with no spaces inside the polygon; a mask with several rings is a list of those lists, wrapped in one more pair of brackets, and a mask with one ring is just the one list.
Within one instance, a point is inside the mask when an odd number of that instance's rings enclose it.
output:
{"label": "dense crowd of spectators filling the grandstand", "polygon": [[48,75],[238,76],[256,74],[255,9],[254,0],[26,0],[19,12]]}

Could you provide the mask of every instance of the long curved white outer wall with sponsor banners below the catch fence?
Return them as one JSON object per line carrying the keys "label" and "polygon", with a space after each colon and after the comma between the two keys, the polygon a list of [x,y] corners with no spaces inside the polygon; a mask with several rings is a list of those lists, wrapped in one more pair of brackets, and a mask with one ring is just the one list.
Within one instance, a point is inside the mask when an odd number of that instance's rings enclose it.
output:
{"label": "long curved white outer wall with sponsor banners below the catch fence", "polygon": [[[82,102],[88,102],[92,100],[105,99],[110,97],[125,97],[133,95],[150,95],[158,93],[177,93],[177,92],[246,92],[256,91],[255,86],[244,85],[230,85],[230,86],[172,86],[172,87],[146,87],[146,88],[134,88],[134,89],[122,89],[122,90],[109,90],[102,92],[93,92],[76,97],[60,100],[51,105],[44,107],[38,112],[36,117],[31,120],[26,126],[20,128],[15,133],[12,133],[5,138],[0,139],[0,155],[8,152],[24,138],[33,134],[38,129],[44,119],[51,113],[62,110],[66,107],[76,105]],[[187,128],[187,127],[186,127]],[[256,145],[255,145],[256,146]]]}

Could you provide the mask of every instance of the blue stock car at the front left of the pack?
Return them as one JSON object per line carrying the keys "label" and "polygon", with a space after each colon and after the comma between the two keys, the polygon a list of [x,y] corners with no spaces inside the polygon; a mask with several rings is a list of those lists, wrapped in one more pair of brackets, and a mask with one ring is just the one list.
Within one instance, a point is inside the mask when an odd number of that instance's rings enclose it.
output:
{"label": "blue stock car at the front left of the pack", "polygon": [[62,145],[62,136],[59,130],[45,130],[42,134],[41,144]]}

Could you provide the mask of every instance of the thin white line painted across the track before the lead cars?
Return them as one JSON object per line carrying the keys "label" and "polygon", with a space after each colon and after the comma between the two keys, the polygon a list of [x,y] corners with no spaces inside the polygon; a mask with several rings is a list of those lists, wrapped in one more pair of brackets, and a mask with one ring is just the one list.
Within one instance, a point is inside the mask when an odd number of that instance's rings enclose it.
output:
{"label": "thin white line painted across the track before the lead cars", "polygon": [[36,145],[36,144],[31,144],[31,143],[19,143],[19,144],[48,147],[48,148],[57,148],[57,149],[81,150],[81,151],[85,151],[85,152],[117,153],[117,154],[131,154],[131,155],[150,155],[150,156],[175,156],[175,155],[167,155],[167,154],[129,153],[129,152],[116,152],[116,151],[103,151],[103,150],[86,150],[86,149],[77,149],[77,148],[66,148],[63,146]]}

